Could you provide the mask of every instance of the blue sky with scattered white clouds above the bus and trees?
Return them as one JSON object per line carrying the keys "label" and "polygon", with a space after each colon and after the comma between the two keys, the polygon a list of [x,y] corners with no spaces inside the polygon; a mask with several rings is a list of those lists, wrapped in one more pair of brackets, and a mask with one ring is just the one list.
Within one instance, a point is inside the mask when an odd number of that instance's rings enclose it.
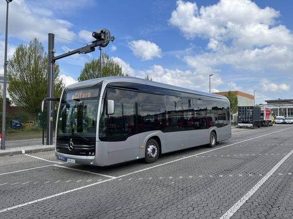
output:
{"label": "blue sky with scattered white clouds above the bus and trees", "polygon": [[[1,1],[2,66],[6,7]],[[214,74],[212,91],[257,90],[256,103],[264,103],[293,98],[292,11],[293,2],[277,0],[14,0],[8,53],[33,37],[47,50],[50,32],[85,43],[92,31],[107,28],[117,40],[104,50],[131,76],[208,91]],[[80,46],[55,40],[56,55]],[[60,60],[64,82],[74,83],[84,62],[98,56],[99,50]]]}

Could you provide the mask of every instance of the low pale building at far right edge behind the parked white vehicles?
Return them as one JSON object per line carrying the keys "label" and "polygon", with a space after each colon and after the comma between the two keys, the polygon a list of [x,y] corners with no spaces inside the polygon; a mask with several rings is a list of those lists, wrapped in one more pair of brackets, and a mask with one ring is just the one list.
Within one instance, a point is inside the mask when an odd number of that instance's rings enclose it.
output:
{"label": "low pale building at far right edge behind the parked white vehicles", "polygon": [[265,100],[267,104],[261,106],[272,109],[275,116],[293,117],[293,99]]}

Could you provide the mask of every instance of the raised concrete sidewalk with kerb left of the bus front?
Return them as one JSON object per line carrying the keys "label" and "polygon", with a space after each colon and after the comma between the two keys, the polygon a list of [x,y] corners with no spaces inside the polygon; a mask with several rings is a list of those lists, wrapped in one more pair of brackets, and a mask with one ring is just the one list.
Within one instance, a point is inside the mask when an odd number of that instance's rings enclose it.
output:
{"label": "raised concrete sidewalk with kerb left of the bus front", "polygon": [[0,149],[0,156],[8,156],[15,154],[27,154],[27,153],[36,153],[40,151],[54,150],[54,145],[34,145],[34,146],[25,146],[25,147],[11,147],[5,150]]}

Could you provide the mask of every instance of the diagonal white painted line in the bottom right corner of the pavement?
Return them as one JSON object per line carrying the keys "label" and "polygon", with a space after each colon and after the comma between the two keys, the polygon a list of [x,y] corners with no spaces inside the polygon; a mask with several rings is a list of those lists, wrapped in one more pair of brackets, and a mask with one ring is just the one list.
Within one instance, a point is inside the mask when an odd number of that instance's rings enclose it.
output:
{"label": "diagonal white painted line in the bottom right corner of the pavement", "polygon": [[290,151],[279,163],[277,163],[272,169],[258,182],[256,185],[251,188],[251,190],[246,193],[237,203],[235,203],[222,217],[221,219],[229,219],[233,214],[265,183],[270,176],[283,164],[290,155],[293,154],[293,150]]}

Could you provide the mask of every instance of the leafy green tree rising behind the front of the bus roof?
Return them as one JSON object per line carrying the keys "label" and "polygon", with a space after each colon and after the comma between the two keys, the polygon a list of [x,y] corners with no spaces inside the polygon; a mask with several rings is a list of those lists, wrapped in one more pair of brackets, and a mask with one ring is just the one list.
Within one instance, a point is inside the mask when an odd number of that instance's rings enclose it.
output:
{"label": "leafy green tree rising behind the front of the bus roof", "polygon": [[[99,78],[101,71],[100,56],[98,59],[92,59],[84,63],[84,68],[81,71],[78,81],[85,81],[89,79]],[[109,56],[102,52],[102,77],[107,76],[128,76],[122,73],[122,68],[119,62],[109,59]]]}

